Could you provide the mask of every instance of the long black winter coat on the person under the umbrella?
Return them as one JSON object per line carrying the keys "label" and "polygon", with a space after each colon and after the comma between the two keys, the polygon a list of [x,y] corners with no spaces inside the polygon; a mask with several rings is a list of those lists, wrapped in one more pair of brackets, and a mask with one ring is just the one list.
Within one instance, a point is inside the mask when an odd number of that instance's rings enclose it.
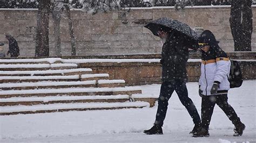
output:
{"label": "long black winter coat on the person under the umbrella", "polygon": [[188,47],[186,38],[172,31],[166,39],[161,52],[162,81],[187,81],[186,64]]}

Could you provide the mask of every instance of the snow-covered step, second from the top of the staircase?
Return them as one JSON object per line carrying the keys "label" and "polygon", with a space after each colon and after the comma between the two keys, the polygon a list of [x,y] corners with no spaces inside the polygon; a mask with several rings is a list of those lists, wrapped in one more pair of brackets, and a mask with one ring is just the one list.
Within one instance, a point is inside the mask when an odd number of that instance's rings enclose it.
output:
{"label": "snow-covered step, second from the top of the staircase", "polygon": [[0,71],[35,71],[35,70],[57,70],[57,69],[76,69],[75,63],[59,64],[0,64]]}

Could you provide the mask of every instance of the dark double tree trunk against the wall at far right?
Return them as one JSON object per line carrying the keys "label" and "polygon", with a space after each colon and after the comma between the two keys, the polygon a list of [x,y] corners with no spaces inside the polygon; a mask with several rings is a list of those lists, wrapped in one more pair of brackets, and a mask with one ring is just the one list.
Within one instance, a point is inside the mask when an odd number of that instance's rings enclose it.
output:
{"label": "dark double tree trunk against the wall at far right", "polygon": [[232,0],[230,27],[234,51],[252,51],[252,0]]}

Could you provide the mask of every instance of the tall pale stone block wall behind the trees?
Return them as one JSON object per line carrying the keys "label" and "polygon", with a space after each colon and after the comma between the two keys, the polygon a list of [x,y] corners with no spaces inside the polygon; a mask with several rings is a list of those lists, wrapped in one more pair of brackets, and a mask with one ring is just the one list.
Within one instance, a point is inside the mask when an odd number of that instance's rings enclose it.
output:
{"label": "tall pale stone block wall behind the trees", "polygon": [[[143,28],[146,22],[160,17],[171,17],[187,23],[192,28],[203,27],[214,32],[220,46],[225,51],[233,51],[230,30],[230,7],[194,6],[176,11],[173,8],[131,9],[122,17],[124,11],[89,15],[79,10],[71,11],[75,29],[77,55],[116,55],[132,53],[159,53],[161,44],[158,37]],[[256,7],[253,6],[253,17]],[[35,55],[37,10],[0,9],[0,42],[8,42],[4,33],[13,35],[19,44],[21,57]],[[60,23],[63,56],[71,55],[68,21]],[[256,21],[253,21],[252,51],[256,51]],[[55,56],[53,46],[53,22],[50,18],[50,56]]]}

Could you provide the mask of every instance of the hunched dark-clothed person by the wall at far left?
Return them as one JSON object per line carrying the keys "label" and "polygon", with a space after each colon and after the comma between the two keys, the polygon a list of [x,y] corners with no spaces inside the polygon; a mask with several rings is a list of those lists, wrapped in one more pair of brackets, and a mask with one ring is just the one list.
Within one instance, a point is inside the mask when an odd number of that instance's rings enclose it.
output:
{"label": "hunched dark-clothed person by the wall at far left", "polygon": [[11,57],[18,57],[19,56],[19,46],[18,46],[16,39],[9,34],[6,34],[5,38],[8,39],[8,41],[9,41],[9,50],[6,53],[6,55],[9,55],[9,53],[10,53]]}

